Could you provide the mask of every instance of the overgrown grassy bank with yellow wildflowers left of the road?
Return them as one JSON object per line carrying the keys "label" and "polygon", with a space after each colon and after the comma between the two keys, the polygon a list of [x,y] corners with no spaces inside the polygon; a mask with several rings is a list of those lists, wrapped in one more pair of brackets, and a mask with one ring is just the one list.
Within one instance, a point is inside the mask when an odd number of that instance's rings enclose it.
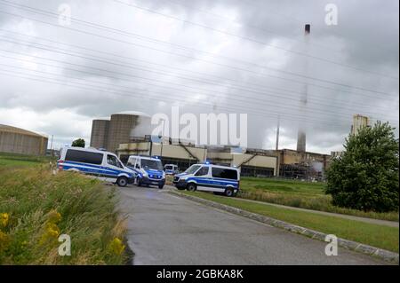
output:
{"label": "overgrown grassy bank with yellow wildflowers left of the road", "polygon": [[[0,155],[0,264],[124,264],[124,219],[96,180],[52,175],[47,158]],[[71,255],[60,256],[60,234]]]}

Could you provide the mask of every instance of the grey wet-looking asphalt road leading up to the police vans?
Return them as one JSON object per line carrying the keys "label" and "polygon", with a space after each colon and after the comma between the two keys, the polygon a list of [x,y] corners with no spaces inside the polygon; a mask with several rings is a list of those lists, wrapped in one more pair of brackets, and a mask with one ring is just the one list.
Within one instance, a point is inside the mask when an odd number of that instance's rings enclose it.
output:
{"label": "grey wet-looking asphalt road leading up to the police vans", "polygon": [[181,199],[163,190],[118,189],[129,215],[133,264],[384,264],[242,216]]}

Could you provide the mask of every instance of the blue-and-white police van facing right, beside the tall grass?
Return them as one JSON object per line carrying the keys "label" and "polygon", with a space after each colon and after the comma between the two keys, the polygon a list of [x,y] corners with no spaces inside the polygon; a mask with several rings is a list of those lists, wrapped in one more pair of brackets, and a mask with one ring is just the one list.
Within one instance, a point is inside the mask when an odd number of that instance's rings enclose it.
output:
{"label": "blue-and-white police van facing right, beside the tall grass", "polygon": [[62,147],[57,161],[60,170],[79,171],[119,186],[132,184],[135,173],[116,157],[116,154],[95,148]]}

